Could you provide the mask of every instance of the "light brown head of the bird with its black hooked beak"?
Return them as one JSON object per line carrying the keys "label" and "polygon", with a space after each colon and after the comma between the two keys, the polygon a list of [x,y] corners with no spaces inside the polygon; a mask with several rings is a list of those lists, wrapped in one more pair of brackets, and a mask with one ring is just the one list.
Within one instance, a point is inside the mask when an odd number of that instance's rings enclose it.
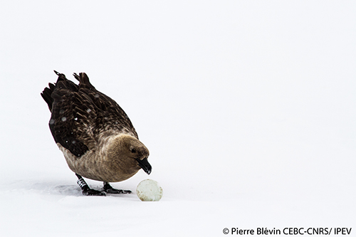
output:
{"label": "light brown head of the bird with its black hooked beak", "polygon": [[150,152],[145,144],[130,135],[115,137],[108,147],[108,157],[112,157],[118,166],[127,169],[127,171],[143,169],[147,174],[150,174],[152,167],[147,160],[149,155]]}

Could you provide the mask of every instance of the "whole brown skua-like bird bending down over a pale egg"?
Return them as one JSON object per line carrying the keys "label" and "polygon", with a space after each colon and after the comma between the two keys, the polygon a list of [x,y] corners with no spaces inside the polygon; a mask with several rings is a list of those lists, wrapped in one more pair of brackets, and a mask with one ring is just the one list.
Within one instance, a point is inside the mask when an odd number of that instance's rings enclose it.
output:
{"label": "whole brown skua-like bird bending down over a pale egg", "polygon": [[[90,84],[85,73],[73,74],[76,85],[66,75],[54,71],[57,82],[41,93],[51,110],[49,127],[68,167],[78,177],[85,195],[125,194],[109,182],[129,179],[140,169],[152,167],[149,151],[140,142],[129,117],[117,102]],[[90,189],[83,177],[103,181],[103,191]]]}

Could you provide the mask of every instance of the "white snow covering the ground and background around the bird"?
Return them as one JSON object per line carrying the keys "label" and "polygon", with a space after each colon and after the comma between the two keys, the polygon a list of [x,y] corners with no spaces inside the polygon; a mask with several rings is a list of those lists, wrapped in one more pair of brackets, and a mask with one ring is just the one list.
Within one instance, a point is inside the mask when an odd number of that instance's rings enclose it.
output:
{"label": "white snow covering the ground and background around the bird", "polygon": [[[0,236],[355,236],[355,12],[355,1],[2,1]],[[88,73],[129,115],[152,174],[112,186],[133,194],[80,193],[40,96],[53,70]],[[161,201],[135,195],[147,178]]]}

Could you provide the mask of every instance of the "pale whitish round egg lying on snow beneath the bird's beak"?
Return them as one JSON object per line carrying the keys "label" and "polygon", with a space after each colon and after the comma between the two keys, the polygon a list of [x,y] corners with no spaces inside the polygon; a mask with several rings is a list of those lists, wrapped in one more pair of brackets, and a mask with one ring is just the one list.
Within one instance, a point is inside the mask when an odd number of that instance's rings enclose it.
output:
{"label": "pale whitish round egg lying on snow beneath the bird's beak", "polygon": [[163,189],[157,181],[145,179],[137,185],[136,194],[141,201],[159,201],[163,195]]}

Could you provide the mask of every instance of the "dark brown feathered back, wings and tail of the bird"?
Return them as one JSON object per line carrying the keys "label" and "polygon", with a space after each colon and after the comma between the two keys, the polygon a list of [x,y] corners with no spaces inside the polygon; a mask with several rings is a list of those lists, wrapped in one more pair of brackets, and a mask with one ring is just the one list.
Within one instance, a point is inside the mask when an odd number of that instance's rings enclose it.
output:
{"label": "dark brown feathered back, wings and tail of the bird", "polygon": [[128,132],[138,138],[122,108],[96,90],[85,73],[75,75],[80,81],[79,85],[61,73],[57,75],[56,85],[43,90],[43,93],[46,92],[45,98],[51,93],[53,100],[52,103],[49,101],[48,107],[52,112],[50,128],[56,142],[80,157],[88,149],[95,149],[103,132]]}

